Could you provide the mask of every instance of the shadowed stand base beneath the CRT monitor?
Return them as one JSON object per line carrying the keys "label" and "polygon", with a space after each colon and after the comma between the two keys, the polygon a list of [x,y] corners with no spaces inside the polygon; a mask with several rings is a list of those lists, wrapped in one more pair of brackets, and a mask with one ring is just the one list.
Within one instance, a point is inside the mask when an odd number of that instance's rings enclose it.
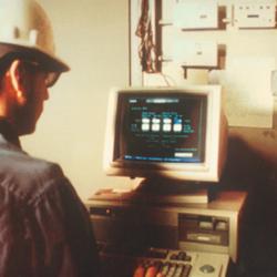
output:
{"label": "shadowed stand base beneath the CRT monitor", "polygon": [[214,199],[215,189],[212,189],[211,183],[156,177],[143,179],[135,194],[143,195],[153,204],[207,204]]}

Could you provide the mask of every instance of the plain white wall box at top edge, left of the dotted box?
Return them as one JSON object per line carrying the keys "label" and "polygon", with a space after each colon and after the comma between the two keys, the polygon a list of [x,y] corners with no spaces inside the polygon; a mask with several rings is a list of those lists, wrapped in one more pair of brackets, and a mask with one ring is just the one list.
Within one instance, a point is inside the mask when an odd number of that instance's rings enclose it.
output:
{"label": "plain white wall box at top edge, left of the dotted box", "polygon": [[173,24],[181,29],[217,29],[216,0],[175,0]]}

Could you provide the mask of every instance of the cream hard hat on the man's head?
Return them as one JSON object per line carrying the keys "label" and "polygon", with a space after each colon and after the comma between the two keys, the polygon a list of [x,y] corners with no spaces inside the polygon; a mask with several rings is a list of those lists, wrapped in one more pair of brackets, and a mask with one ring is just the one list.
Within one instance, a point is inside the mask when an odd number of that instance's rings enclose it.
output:
{"label": "cream hard hat on the man's head", "polygon": [[34,57],[53,72],[69,70],[55,55],[51,22],[34,0],[0,0],[0,59],[10,53]]}

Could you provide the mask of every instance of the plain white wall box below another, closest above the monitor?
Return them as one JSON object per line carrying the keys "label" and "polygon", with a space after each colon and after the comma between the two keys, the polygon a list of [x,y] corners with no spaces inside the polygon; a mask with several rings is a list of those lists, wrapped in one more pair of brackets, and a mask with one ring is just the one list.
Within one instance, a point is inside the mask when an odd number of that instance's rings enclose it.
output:
{"label": "plain white wall box below another, closest above the monitor", "polygon": [[172,48],[172,60],[186,68],[217,68],[218,45],[212,41],[179,41]]}

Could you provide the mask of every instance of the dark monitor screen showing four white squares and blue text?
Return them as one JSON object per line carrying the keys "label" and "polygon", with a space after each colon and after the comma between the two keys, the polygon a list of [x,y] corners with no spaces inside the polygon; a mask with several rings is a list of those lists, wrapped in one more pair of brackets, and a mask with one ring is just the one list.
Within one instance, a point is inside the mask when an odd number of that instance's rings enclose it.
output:
{"label": "dark monitor screen showing four white squares and blue text", "polygon": [[173,93],[120,94],[115,158],[201,163],[205,154],[207,98]]}

